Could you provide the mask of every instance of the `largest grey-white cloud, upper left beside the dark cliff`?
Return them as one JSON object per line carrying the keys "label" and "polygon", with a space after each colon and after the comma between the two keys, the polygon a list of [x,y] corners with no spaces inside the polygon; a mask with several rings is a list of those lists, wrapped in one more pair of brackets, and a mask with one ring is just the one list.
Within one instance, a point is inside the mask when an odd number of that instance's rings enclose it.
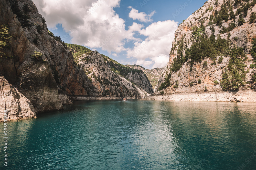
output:
{"label": "largest grey-white cloud, upper left beside the dark cliff", "polygon": [[62,23],[72,43],[109,53],[126,50],[124,39],[137,40],[125,30],[125,21],[113,10],[119,3],[120,0],[35,0],[50,28]]}

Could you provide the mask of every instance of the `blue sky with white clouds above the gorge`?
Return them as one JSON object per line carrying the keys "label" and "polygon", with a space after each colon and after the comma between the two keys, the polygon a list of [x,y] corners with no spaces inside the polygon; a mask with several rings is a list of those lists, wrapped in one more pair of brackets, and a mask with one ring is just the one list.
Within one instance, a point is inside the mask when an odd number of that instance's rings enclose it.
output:
{"label": "blue sky with white clouds above the gorge", "polygon": [[206,0],[34,0],[47,27],[121,64],[165,67],[178,25]]}

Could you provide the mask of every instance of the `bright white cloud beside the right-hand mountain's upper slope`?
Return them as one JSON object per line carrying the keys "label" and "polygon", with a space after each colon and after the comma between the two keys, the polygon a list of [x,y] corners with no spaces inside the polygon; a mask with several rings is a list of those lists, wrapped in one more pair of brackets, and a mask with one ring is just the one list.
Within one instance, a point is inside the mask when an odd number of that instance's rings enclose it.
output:
{"label": "bright white cloud beside the right-hand mountain's upper slope", "polygon": [[153,68],[166,66],[177,27],[178,22],[173,20],[152,23],[139,31],[141,35],[145,35],[147,38],[142,42],[136,41],[134,48],[127,50],[127,56],[136,58],[137,64],[141,63],[145,67],[149,62],[143,63],[142,61],[149,59],[154,63]]}

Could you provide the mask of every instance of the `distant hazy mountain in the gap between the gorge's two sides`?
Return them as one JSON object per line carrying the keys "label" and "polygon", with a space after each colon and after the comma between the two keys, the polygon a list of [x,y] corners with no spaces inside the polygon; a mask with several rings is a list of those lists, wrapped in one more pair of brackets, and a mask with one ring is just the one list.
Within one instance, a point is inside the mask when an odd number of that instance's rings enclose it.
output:
{"label": "distant hazy mountain in the gap between the gorge's two sides", "polygon": [[159,77],[162,75],[163,71],[164,71],[164,67],[159,69],[159,68],[154,68],[154,69],[145,69],[144,67],[142,66],[139,66],[139,65],[125,65],[126,67],[130,67],[130,68],[134,68],[134,69],[137,69],[137,70],[142,70],[148,77],[148,79],[150,80],[150,83],[153,87],[153,89],[155,88],[155,86],[157,85],[157,81],[159,79]]}

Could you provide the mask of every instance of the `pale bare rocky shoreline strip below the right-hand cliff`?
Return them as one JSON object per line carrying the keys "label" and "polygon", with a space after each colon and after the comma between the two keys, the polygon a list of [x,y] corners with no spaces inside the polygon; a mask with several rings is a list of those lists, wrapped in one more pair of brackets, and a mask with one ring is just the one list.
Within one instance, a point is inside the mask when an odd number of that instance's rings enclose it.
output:
{"label": "pale bare rocky shoreline strip below the right-hand cliff", "polygon": [[256,92],[253,90],[240,90],[230,92],[174,93],[152,95],[141,100],[256,102]]}

